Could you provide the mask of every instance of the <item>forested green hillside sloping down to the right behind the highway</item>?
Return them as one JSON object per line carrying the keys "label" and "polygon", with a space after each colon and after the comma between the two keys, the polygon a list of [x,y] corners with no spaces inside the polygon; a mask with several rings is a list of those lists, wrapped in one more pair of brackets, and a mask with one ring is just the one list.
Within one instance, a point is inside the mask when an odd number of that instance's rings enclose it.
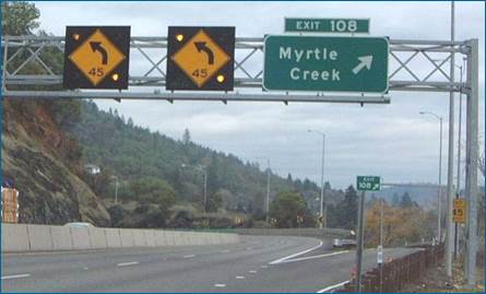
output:
{"label": "forested green hillside sloping down to the right behind the highway", "polygon": [[[175,140],[141,128],[116,110],[100,110],[94,102],[82,103],[80,122],[70,132],[80,142],[83,164],[100,167],[100,173],[87,180],[96,181],[94,190],[109,208],[114,205],[116,178],[120,183],[118,198],[126,207],[137,207],[133,201],[140,202],[143,197],[134,191],[134,183],[158,178],[174,189],[175,203],[202,211],[203,177],[194,168],[200,166],[208,173],[209,212],[262,216],[266,172],[258,164],[191,142],[190,132]],[[342,200],[342,191],[333,191],[329,184],[328,188],[332,203]],[[320,189],[315,183],[271,174],[271,199],[281,191],[294,190],[304,195],[311,211],[318,211]]]}

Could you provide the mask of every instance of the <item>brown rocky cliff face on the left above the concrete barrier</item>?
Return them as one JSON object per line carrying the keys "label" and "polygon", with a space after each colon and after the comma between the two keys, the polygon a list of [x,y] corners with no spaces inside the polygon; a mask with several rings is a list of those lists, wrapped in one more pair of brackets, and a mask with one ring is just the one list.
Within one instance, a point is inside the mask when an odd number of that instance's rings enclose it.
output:
{"label": "brown rocky cliff face on the left above the concrete barrier", "polygon": [[[3,101],[2,176],[20,191],[20,222],[110,224],[106,208],[76,175],[74,141],[43,103]],[[75,158],[75,156],[74,156]]]}

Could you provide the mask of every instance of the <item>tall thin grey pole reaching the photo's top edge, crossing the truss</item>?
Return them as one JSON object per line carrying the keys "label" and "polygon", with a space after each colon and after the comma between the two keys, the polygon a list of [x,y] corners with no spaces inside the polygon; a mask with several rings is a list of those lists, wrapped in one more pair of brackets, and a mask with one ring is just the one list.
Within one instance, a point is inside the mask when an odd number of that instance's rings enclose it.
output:
{"label": "tall thin grey pole reaching the photo's top edge, crossing the truss", "polygon": [[[454,1],[451,1],[451,42],[454,42]],[[450,81],[454,82],[454,52],[451,52]],[[447,170],[447,213],[446,213],[446,272],[452,277],[452,254],[454,234],[452,223],[453,168],[454,168],[454,92],[449,92],[449,152]]]}

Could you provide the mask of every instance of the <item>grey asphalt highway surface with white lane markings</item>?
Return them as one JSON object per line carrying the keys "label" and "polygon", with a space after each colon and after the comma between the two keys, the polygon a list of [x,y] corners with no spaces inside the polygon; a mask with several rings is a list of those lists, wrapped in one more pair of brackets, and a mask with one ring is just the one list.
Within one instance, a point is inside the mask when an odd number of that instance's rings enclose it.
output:
{"label": "grey asphalt highway surface with white lane markings", "polygon": [[[236,245],[2,254],[2,292],[319,292],[349,279],[330,240],[241,236]],[[396,258],[416,249],[384,251]],[[375,267],[366,250],[364,269]]]}

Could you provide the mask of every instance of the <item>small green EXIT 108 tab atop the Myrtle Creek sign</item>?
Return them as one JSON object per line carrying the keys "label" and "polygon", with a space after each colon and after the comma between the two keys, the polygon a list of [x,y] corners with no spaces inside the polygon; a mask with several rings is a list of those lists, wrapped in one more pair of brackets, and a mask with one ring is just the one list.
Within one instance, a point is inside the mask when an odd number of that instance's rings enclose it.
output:
{"label": "small green EXIT 108 tab atop the Myrtle Creek sign", "polygon": [[369,19],[285,17],[285,32],[369,34]]}

